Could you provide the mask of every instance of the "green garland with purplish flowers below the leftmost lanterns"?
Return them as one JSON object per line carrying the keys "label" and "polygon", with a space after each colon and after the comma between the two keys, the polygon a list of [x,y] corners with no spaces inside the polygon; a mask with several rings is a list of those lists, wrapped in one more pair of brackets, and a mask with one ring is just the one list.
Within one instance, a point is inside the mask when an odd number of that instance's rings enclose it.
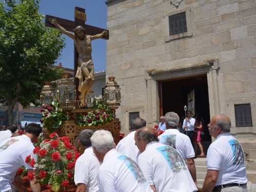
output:
{"label": "green garland with purplish flowers below the leftmost lanterns", "polygon": [[50,133],[57,129],[62,121],[67,120],[67,116],[60,108],[57,98],[51,104],[43,104],[40,112],[42,112],[40,119],[42,127],[46,127]]}

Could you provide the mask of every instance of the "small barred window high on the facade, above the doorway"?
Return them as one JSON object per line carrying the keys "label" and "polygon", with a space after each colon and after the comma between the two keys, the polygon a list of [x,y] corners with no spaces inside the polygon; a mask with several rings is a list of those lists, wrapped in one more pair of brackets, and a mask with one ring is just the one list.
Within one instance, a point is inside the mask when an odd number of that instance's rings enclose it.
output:
{"label": "small barred window high on the facade, above the doorway", "polygon": [[170,35],[187,32],[186,12],[169,16]]}

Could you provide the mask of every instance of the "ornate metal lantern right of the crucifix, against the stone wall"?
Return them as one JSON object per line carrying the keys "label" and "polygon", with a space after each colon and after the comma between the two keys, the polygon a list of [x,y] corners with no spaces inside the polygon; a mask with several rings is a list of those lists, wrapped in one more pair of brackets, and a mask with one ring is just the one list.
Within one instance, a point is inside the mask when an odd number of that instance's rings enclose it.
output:
{"label": "ornate metal lantern right of the crucifix, against the stone wall", "polygon": [[108,103],[114,118],[116,117],[116,109],[119,108],[121,103],[120,90],[119,85],[115,81],[115,77],[109,77],[109,82],[106,83],[104,89],[104,102]]}

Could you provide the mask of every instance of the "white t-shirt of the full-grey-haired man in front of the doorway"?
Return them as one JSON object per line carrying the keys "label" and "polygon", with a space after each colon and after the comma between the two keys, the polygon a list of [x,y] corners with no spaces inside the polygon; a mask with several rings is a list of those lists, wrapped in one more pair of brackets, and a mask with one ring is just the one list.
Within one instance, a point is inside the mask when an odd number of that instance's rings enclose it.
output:
{"label": "white t-shirt of the full-grey-haired man in front of the doorway", "polygon": [[195,157],[194,148],[188,136],[180,133],[176,129],[168,129],[158,136],[159,143],[172,146],[179,152],[182,159],[186,163],[186,159]]}

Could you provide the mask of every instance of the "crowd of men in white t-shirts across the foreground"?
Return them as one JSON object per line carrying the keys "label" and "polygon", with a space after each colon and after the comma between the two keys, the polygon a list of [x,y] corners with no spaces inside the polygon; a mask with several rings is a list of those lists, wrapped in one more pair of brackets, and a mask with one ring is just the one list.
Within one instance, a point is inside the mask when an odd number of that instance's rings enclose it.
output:
{"label": "crowd of men in white t-shirts across the foreground", "polygon": [[[179,116],[174,112],[164,117],[165,131],[157,137],[144,119],[132,119],[131,133],[117,146],[109,131],[83,130],[79,146],[84,150],[75,164],[74,181],[81,191],[197,191],[195,152],[189,138],[193,119],[184,119],[187,135],[177,130]],[[209,134],[216,138],[207,153],[207,175],[202,192],[247,191],[245,158],[241,144],[230,134],[230,119],[222,114],[212,117]],[[11,130],[11,127],[9,127]],[[0,191],[11,192],[15,173],[33,151],[32,142],[41,127],[27,125],[25,134],[0,142]],[[25,147],[26,146],[26,147]],[[36,170],[34,170],[36,171]],[[40,191],[36,178],[33,191]]]}

